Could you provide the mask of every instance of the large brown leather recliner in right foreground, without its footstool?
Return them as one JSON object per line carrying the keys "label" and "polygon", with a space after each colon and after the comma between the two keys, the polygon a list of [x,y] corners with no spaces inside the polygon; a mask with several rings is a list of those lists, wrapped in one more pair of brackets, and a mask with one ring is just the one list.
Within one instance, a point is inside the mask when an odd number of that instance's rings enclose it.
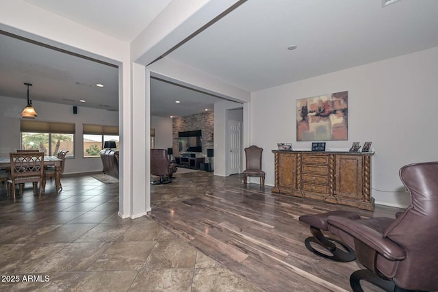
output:
{"label": "large brown leather recliner in right foreground, without its footstool", "polygon": [[438,291],[438,162],[405,165],[400,178],[411,203],[395,219],[328,218],[367,268],[350,276],[353,291],[362,291],[360,280],[386,291]]}

